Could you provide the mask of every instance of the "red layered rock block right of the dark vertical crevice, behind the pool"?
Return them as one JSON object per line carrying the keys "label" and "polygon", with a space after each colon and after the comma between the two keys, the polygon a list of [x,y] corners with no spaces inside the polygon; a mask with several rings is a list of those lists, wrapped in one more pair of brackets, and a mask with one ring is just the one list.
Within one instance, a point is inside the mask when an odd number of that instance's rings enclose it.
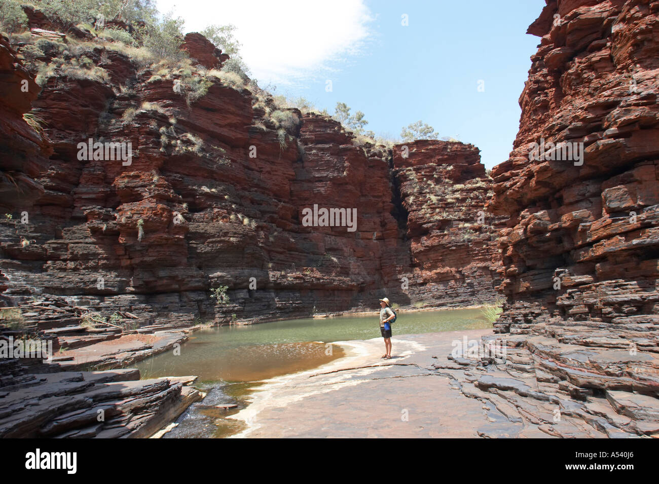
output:
{"label": "red layered rock block right of the dark vertical crevice, behind the pool", "polygon": [[492,179],[479,152],[471,144],[436,140],[393,148],[393,173],[408,213],[406,277],[413,300],[465,306],[498,296],[501,217],[484,209]]}

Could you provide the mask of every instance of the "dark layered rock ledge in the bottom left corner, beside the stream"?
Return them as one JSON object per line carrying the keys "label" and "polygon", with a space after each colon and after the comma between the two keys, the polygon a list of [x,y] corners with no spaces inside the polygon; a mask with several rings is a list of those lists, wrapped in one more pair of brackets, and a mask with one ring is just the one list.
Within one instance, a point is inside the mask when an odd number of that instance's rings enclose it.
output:
{"label": "dark layered rock ledge in the bottom left corner, beside the stream", "polygon": [[[53,371],[0,360],[0,437],[151,437],[202,394],[196,377],[140,380],[136,369]],[[43,373],[41,373],[43,372]]]}

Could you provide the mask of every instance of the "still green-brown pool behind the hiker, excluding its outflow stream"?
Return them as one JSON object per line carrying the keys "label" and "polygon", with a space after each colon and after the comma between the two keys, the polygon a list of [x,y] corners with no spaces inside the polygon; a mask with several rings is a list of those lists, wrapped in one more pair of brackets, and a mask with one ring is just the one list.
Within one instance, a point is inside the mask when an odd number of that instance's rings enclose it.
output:
{"label": "still green-brown pool behind the hiker, excluding its outflow stream", "polygon": [[[393,337],[492,327],[480,309],[399,313]],[[203,382],[258,381],[317,367],[343,356],[327,343],[380,336],[378,313],[223,326],[194,333],[173,351],[138,364],[142,378],[197,375]],[[328,354],[330,353],[331,354]]]}

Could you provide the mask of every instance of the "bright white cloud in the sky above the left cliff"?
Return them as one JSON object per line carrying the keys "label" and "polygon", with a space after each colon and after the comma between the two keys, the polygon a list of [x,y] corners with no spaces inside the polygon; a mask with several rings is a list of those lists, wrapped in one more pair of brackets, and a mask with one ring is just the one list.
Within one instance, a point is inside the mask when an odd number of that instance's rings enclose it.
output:
{"label": "bright white cloud in the sky above the left cliff", "polygon": [[364,0],[158,0],[185,18],[186,32],[233,24],[241,55],[260,84],[291,84],[341,67],[372,37]]}

